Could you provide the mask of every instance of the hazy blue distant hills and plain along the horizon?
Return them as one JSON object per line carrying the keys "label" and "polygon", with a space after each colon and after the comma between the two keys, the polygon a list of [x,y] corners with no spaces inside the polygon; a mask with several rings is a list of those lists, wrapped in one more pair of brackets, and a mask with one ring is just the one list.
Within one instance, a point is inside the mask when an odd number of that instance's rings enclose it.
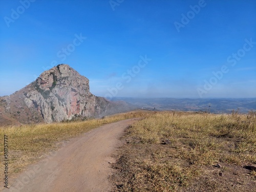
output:
{"label": "hazy blue distant hills and plain along the horizon", "polygon": [[130,98],[116,97],[113,101],[123,100],[145,110],[179,110],[210,113],[247,113],[256,110],[256,98],[215,98],[215,99],[176,99],[176,98]]}

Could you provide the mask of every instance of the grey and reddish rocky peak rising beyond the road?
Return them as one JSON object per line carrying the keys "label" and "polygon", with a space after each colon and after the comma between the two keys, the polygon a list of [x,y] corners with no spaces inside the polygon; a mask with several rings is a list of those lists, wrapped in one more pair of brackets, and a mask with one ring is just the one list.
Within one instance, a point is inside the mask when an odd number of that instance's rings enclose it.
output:
{"label": "grey and reddish rocky peak rising beyond the road", "polygon": [[[17,114],[14,100],[19,105]],[[114,103],[91,94],[88,78],[64,64],[43,72],[34,82],[11,96],[3,97],[1,102],[5,103],[6,113],[20,116],[24,112],[30,116],[29,122],[33,122],[31,116],[37,121],[44,119],[51,123],[127,110],[124,103]]]}

